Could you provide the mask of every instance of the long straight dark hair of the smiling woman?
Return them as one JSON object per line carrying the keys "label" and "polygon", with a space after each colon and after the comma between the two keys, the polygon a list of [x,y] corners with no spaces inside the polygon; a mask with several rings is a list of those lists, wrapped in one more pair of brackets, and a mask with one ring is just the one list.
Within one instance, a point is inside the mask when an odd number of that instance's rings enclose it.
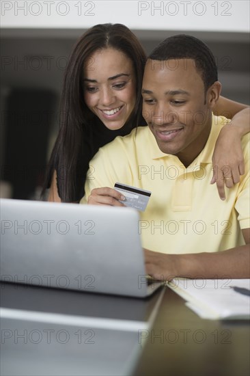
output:
{"label": "long straight dark hair of the smiling woman", "polygon": [[[122,51],[133,62],[136,77],[136,101],[122,129],[110,131],[85,105],[83,99],[83,66],[98,49]],[[64,75],[61,93],[59,134],[48,163],[43,192],[51,185],[57,172],[57,190],[62,202],[78,202],[84,194],[86,172],[90,159],[100,146],[117,135],[125,135],[137,125],[145,125],[141,116],[141,84],[145,52],[137,37],[121,24],[96,25],[88,29],[74,46]],[[95,126],[103,137],[93,137]],[[103,127],[103,128],[102,128]],[[84,144],[83,144],[84,143]],[[85,149],[85,150],[84,150]],[[81,185],[81,187],[79,187]]]}

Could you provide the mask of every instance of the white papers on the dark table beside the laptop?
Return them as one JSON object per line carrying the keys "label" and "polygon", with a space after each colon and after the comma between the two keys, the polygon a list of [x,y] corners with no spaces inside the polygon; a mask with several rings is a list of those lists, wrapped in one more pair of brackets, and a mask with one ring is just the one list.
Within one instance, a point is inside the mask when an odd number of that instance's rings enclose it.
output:
{"label": "white papers on the dark table beside the laptop", "polygon": [[[186,306],[203,319],[250,319],[250,280],[190,280],[175,278],[168,286],[186,299]],[[237,290],[236,288],[236,290]]]}

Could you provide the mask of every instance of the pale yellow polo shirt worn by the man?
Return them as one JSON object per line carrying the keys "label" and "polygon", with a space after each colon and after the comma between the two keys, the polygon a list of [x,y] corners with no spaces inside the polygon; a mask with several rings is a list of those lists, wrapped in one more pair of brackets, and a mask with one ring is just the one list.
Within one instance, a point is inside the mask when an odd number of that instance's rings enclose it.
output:
{"label": "pale yellow polo shirt worn by the man", "polygon": [[178,157],[161,152],[148,126],[117,137],[89,163],[81,204],[87,203],[94,188],[113,188],[116,182],[133,185],[152,191],[138,223],[143,247],[182,254],[217,252],[244,244],[240,228],[250,227],[249,134],[242,137],[246,173],[240,183],[225,188],[225,201],[219,198],[216,184],[210,185],[214,144],[226,122],[213,116],[206,146],[187,168]]}

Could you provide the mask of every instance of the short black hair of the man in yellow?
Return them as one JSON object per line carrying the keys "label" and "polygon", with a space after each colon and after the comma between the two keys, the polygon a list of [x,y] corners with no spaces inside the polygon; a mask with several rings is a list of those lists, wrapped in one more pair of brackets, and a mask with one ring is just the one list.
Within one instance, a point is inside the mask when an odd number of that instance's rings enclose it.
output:
{"label": "short black hair of the man in yellow", "polygon": [[193,59],[195,68],[204,82],[205,92],[210,85],[218,81],[217,65],[212,51],[202,40],[194,36],[186,34],[171,36],[158,44],[148,58],[158,61]]}

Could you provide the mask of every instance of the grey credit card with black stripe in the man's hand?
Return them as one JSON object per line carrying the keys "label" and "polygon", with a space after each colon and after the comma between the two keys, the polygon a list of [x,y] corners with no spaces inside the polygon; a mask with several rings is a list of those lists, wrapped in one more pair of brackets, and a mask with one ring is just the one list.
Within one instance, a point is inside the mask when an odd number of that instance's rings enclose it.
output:
{"label": "grey credit card with black stripe in the man's hand", "polygon": [[114,189],[123,196],[126,197],[124,201],[120,200],[125,206],[130,206],[130,208],[135,208],[139,211],[145,211],[148,205],[148,200],[150,199],[151,192],[145,191],[144,189],[131,187],[130,185],[115,183]]}

